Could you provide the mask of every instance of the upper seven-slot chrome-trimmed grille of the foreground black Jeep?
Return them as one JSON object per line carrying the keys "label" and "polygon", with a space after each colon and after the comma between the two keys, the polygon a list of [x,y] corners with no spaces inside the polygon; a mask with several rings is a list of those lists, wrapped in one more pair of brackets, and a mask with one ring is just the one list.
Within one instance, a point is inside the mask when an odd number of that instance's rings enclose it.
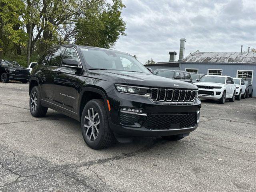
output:
{"label": "upper seven-slot chrome-trimmed grille of the foreground black Jeep", "polygon": [[151,99],[154,102],[194,102],[196,90],[152,88]]}

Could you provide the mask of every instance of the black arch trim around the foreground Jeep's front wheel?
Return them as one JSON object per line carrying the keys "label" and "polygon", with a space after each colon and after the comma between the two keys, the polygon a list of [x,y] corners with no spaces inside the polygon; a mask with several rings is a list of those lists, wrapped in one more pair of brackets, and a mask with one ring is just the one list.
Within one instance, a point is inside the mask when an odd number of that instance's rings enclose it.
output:
{"label": "black arch trim around the foreground Jeep's front wheel", "polygon": [[[78,118],[80,120],[81,120],[82,112],[86,103],[92,99],[99,99],[99,98],[104,100],[105,106],[108,106],[108,102],[107,102],[108,97],[106,92],[102,90],[102,88],[86,86],[80,91],[79,99],[78,99]],[[106,108],[106,112],[109,118],[110,112],[107,108]]]}

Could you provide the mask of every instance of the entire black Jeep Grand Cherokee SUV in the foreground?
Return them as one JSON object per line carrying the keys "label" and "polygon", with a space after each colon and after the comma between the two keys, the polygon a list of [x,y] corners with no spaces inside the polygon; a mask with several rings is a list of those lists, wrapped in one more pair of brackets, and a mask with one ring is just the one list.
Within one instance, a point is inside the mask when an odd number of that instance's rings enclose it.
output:
{"label": "entire black Jeep Grand Cherokee SUV in the foreground", "polygon": [[29,83],[32,116],[52,108],[80,121],[94,149],[114,138],[188,136],[199,122],[197,92],[193,84],[152,75],[129,54],[74,44],[47,50]]}

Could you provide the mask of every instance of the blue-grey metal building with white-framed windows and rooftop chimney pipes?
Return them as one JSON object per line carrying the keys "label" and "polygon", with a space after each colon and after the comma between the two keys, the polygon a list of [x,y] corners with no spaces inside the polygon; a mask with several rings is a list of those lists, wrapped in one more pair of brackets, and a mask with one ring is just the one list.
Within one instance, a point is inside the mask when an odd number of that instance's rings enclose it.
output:
{"label": "blue-grey metal building with white-framed windows and rooftop chimney pipes", "polygon": [[[253,96],[256,96],[256,52],[194,52],[183,58],[185,39],[180,39],[182,53],[175,62],[176,52],[169,52],[168,62],[147,65],[156,69],[178,69],[190,73],[228,75],[252,82]],[[184,44],[184,46],[183,46]]]}

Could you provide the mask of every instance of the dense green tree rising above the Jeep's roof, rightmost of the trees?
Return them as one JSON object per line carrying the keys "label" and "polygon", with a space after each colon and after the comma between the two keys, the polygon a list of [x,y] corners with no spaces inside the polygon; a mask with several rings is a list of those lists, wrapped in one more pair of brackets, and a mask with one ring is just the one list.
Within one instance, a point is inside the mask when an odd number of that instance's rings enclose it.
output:
{"label": "dense green tree rising above the Jeep's roof, rightmost of the trees", "polygon": [[85,6],[76,23],[76,43],[103,48],[114,46],[120,35],[126,35],[126,23],[121,17],[124,7],[122,0],[113,0],[112,4],[98,0],[89,9]]}

